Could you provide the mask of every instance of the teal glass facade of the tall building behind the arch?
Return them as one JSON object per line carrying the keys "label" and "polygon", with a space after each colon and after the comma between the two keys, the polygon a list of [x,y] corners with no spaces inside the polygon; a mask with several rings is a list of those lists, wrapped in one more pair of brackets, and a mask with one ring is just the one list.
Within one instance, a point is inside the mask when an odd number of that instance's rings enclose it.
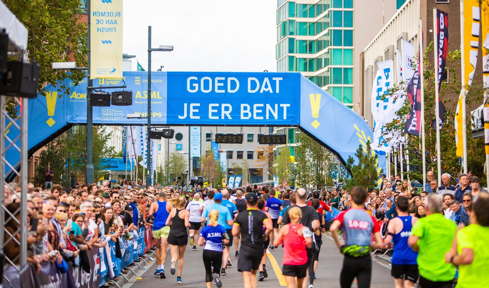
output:
{"label": "teal glass facade of the tall building behind the arch", "polygon": [[353,0],[309,2],[277,0],[277,71],[302,72],[336,99],[352,106]]}

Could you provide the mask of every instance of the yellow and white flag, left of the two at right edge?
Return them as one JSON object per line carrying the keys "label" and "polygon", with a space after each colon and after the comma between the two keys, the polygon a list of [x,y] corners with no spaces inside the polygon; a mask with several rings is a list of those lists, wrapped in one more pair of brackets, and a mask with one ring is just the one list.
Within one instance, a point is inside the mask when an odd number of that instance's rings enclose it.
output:
{"label": "yellow and white flag, left of the two at right edge", "polygon": [[[483,1],[484,2],[484,1]],[[465,90],[460,92],[457,110],[455,111],[455,144],[457,145],[457,156],[463,156],[463,94],[468,91],[474,78],[475,66],[477,65],[477,50],[479,48],[479,22],[481,13],[478,0],[464,0],[464,58],[462,59],[462,69],[464,69]],[[484,14],[484,13],[483,13]]]}

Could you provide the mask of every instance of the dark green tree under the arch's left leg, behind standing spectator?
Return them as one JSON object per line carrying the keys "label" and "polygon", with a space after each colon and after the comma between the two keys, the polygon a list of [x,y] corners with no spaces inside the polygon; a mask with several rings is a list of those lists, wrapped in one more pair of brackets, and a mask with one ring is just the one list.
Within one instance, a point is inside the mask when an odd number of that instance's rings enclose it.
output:
{"label": "dark green tree under the arch's left leg, behind standing spectator", "polygon": [[61,155],[61,148],[55,145],[55,142],[47,144],[46,150],[41,151],[39,164],[33,179],[36,187],[44,187],[44,171],[46,170],[47,164],[51,166],[51,170],[54,172],[53,184],[70,187],[69,176],[66,174],[66,161]]}

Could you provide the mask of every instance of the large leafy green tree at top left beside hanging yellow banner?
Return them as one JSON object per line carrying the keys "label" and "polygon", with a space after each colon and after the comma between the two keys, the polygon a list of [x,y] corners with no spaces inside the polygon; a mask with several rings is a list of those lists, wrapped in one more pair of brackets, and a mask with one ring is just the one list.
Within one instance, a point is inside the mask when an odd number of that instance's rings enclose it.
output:
{"label": "large leafy green tree at top left beside hanging yellow banner", "polygon": [[[38,91],[45,95],[50,83],[61,95],[71,91],[66,78],[78,82],[85,77],[81,70],[53,70],[53,62],[76,62],[87,66],[87,23],[80,22],[80,0],[4,0],[7,7],[28,31],[30,60],[41,66]],[[68,82],[69,83],[69,82]]]}

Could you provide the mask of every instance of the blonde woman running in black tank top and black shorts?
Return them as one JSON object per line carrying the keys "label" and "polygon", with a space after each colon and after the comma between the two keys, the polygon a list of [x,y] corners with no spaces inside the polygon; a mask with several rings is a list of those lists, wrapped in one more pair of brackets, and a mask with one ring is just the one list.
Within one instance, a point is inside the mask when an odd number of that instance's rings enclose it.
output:
{"label": "blonde woman running in black tank top and black shorts", "polygon": [[166,220],[166,224],[171,225],[170,234],[168,235],[168,244],[170,244],[170,252],[172,254],[170,273],[175,275],[175,266],[177,265],[178,259],[177,283],[183,283],[181,274],[183,269],[183,254],[185,253],[188,241],[187,228],[190,227],[190,222],[188,221],[190,212],[185,210],[185,197],[172,198],[169,202],[175,207]]}

